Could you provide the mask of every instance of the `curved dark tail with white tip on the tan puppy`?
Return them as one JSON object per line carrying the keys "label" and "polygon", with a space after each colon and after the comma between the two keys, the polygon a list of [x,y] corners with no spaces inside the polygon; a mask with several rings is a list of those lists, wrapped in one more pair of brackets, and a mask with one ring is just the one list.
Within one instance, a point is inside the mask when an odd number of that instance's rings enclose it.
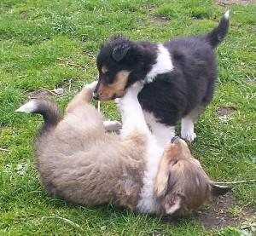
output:
{"label": "curved dark tail with white tip on the tan puppy", "polygon": [[20,106],[15,112],[37,113],[44,118],[42,132],[54,128],[61,121],[61,112],[52,101],[32,99]]}

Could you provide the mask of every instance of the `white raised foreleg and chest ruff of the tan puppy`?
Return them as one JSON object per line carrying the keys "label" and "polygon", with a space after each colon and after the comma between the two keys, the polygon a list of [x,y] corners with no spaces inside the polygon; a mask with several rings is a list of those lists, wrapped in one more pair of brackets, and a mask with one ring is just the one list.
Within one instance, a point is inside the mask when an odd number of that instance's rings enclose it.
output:
{"label": "white raised foreleg and chest ruff of the tan puppy", "polygon": [[140,89],[139,85],[135,84],[127,89],[123,98],[118,100],[123,119],[121,136],[125,138],[132,131],[138,131],[147,137],[146,168],[137,210],[144,213],[154,213],[158,210],[158,204],[154,199],[154,179],[164,150],[157,145],[154,136],[148,130],[143,109],[137,100],[137,94]]}

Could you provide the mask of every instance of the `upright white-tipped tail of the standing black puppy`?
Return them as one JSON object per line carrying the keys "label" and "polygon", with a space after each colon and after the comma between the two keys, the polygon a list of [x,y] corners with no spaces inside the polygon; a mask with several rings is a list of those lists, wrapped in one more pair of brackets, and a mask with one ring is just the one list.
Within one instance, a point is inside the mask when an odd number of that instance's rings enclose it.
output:
{"label": "upright white-tipped tail of the standing black puppy", "polygon": [[208,32],[204,39],[210,43],[212,48],[218,46],[224,40],[224,37],[227,35],[230,27],[230,11],[226,11],[224,16],[221,18],[217,27],[215,27],[212,32]]}

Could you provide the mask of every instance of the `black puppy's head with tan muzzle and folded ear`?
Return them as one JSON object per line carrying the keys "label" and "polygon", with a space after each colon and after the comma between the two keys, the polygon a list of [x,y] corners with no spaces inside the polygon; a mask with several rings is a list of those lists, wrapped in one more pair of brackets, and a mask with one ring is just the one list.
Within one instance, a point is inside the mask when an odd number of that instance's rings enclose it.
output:
{"label": "black puppy's head with tan muzzle and folded ear", "polygon": [[132,83],[144,79],[152,64],[153,48],[150,43],[137,43],[125,37],[112,37],[103,44],[96,60],[99,80],[94,98],[100,101],[120,98]]}

